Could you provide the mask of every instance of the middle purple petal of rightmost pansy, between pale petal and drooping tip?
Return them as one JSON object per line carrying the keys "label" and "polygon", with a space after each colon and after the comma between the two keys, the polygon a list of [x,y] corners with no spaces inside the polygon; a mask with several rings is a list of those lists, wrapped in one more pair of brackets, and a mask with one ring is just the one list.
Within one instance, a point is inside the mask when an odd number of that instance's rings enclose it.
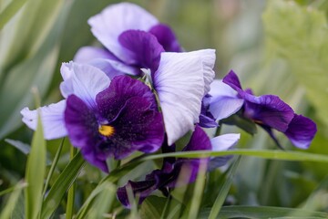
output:
{"label": "middle purple petal of rightmost pansy, between pale petal and drooping tip", "polygon": [[260,97],[245,94],[244,115],[261,125],[284,132],[292,121],[294,112],[288,104],[274,95]]}

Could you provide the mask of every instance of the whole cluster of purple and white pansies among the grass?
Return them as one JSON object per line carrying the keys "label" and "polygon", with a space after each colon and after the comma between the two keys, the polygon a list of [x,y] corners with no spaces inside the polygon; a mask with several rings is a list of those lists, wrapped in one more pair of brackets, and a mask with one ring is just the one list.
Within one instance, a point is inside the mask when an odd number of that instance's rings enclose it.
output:
{"label": "whole cluster of purple and white pansies among the grass", "polygon": [[[214,49],[184,52],[169,26],[138,5],[110,5],[88,24],[103,47],[82,47],[74,61],[62,64],[63,100],[39,110],[25,108],[21,114],[36,130],[40,111],[47,140],[68,136],[85,160],[103,172],[109,172],[108,158],[176,151],[176,141],[190,131],[182,151],[231,150],[240,134],[210,139],[202,128],[217,127],[232,116],[259,124],[278,144],[272,129],[299,148],[313,140],[312,120],[295,114],[278,97],[255,97],[250,89],[241,89],[232,71],[214,80]],[[200,163],[210,171],[230,158],[166,158],[144,181],[119,188],[118,200],[129,206],[128,187],[139,203],[154,190],[168,194],[194,182]]]}

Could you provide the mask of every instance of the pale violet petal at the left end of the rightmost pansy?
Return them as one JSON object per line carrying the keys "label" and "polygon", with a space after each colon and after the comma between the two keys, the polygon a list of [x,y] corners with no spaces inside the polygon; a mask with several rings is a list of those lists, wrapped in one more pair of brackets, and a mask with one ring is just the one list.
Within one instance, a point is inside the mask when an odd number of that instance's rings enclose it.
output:
{"label": "pale violet petal at the left end of the rightmost pansy", "polygon": [[241,110],[243,103],[243,99],[228,96],[213,97],[210,99],[210,113],[215,120],[222,120]]}

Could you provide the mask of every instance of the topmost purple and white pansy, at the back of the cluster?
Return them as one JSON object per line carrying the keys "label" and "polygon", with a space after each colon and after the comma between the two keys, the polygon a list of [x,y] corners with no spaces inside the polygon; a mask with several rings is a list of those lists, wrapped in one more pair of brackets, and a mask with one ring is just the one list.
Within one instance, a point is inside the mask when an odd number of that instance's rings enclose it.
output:
{"label": "topmost purple and white pansy, at the back of the cluster", "polygon": [[161,52],[182,51],[169,26],[138,5],[110,5],[88,24],[105,48],[82,47],[74,60],[101,68],[109,77],[139,75],[140,68],[156,70]]}

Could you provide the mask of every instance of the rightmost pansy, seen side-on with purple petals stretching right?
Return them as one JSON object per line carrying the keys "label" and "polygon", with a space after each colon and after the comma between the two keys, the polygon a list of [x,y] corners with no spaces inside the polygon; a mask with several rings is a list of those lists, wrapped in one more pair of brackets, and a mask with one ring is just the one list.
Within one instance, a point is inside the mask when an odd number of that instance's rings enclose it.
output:
{"label": "rightmost pansy, seen side-on with purple petals stretching right", "polygon": [[[217,88],[214,88],[214,87]],[[292,144],[307,149],[316,133],[316,125],[274,95],[254,96],[251,89],[241,89],[237,75],[231,72],[222,81],[212,83],[210,112],[217,119],[227,117],[240,110],[241,116],[252,120],[268,131],[272,139],[281,147],[272,130],[284,133]],[[236,92],[237,91],[237,92]],[[229,106],[229,107],[227,107]],[[229,110],[230,109],[230,110]]]}

